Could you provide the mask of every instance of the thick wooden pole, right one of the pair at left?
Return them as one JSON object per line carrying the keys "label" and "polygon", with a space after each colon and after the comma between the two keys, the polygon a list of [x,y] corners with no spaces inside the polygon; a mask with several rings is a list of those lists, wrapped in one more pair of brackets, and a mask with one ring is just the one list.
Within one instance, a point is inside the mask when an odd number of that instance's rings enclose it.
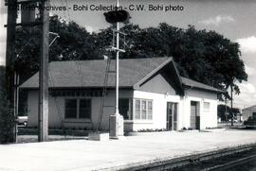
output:
{"label": "thick wooden pole, right one of the pair at left", "polygon": [[38,141],[45,142],[48,139],[48,32],[49,12],[44,10],[49,5],[49,0],[42,1],[41,20],[42,44],[39,71],[39,113],[38,113]]}

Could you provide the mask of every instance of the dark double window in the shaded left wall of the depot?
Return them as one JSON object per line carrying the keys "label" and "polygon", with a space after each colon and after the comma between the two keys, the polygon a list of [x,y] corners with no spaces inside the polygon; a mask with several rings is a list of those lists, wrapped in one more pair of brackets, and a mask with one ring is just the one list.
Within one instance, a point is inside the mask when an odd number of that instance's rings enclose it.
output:
{"label": "dark double window in the shaded left wall of the depot", "polygon": [[65,99],[66,119],[90,119],[91,99]]}

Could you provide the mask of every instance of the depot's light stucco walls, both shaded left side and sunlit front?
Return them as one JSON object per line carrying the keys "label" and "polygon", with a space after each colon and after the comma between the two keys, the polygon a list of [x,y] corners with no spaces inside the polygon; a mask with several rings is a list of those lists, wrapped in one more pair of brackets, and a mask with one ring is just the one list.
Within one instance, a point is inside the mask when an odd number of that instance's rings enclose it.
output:
{"label": "depot's light stucco walls, both shaded left side and sunlit front", "polygon": [[[126,128],[133,130],[146,129],[146,128],[166,128],[166,114],[167,102],[177,103],[177,129],[190,128],[191,126],[191,101],[199,103],[200,113],[200,128],[214,128],[217,127],[217,95],[197,91],[186,90],[186,95],[181,97],[175,94],[157,94],[143,91],[128,91],[121,90],[119,93],[120,98],[141,98],[153,100],[153,119],[152,120],[133,120],[125,121]],[[114,91],[109,91],[105,98],[106,106],[114,106]],[[49,96],[49,127],[58,128],[64,123],[66,128],[92,128],[96,127],[99,119],[101,97],[90,97],[92,103],[92,122],[85,119],[64,119],[64,99],[74,98],[72,96]],[[84,97],[82,97],[84,98]],[[28,99],[28,127],[35,127],[38,124],[38,94],[36,91],[29,91]],[[204,111],[203,103],[210,102],[210,111]],[[135,109],[135,103],[133,103]],[[57,110],[58,109],[58,110]],[[101,128],[109,128],[109,116],[114,113],[114,108],[104,108],[102,115]],[[134,113],[133,113],[134,114]],[[133,117],[135,118],[135,117]],[[92,125],[93,123],[93,125]]]}

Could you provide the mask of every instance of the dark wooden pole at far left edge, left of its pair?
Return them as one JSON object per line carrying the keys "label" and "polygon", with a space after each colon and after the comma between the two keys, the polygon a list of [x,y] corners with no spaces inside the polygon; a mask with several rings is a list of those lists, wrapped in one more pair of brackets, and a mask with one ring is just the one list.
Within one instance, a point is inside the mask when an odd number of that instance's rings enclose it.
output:
{"label": "dark wooden pole at far left edge, left of its pair", "polygon": [[[14,113],[14,59],[15,59],[15,25],[17,18],[17,0],[8,0],[8,28],[6,49],[6,88],[11,114]],[[12,142],[16,142],[16,126],[13,128]]]}

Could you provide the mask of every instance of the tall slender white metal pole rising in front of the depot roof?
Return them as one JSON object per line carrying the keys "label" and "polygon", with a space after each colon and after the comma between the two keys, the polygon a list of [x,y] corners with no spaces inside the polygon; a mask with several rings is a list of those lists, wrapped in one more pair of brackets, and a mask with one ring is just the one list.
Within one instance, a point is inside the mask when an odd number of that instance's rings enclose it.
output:
{"label": "tall slender white metal pole rising in front of the depot roof", "polygon": [[[119,8],[119,0],[117,0],[117,8]],[[116,112],[119,114],[119,22],[117,23],[117,59],[116,59]]]}

